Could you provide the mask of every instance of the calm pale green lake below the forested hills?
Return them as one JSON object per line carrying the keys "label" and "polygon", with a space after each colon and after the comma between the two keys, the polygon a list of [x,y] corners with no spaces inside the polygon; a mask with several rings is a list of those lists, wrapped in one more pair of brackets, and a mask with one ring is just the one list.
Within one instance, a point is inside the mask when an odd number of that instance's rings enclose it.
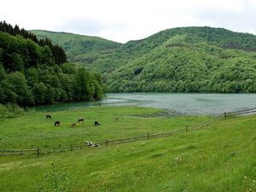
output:
{"label": "calm pale green lake below the forested hills", "polygon": [[34,107],[38,111],[55,111],[92,106],[131,105],[162,108],[170,114],[218,114],[256,108],[256,94],[197,93],[118,93],[107,94],[99,102],[70,102]]}

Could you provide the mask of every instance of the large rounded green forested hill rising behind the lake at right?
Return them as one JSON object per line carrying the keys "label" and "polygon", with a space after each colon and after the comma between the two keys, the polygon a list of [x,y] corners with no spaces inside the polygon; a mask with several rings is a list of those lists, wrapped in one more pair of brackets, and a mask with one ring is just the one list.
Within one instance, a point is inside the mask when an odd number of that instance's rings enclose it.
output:
{"label": "large rounded green forested hill rising behind the lake at right", "polygon": [[75,57],[105,73],[113,92],[256,92],[255,51],[256,36],[206,26],[168,29]]}

